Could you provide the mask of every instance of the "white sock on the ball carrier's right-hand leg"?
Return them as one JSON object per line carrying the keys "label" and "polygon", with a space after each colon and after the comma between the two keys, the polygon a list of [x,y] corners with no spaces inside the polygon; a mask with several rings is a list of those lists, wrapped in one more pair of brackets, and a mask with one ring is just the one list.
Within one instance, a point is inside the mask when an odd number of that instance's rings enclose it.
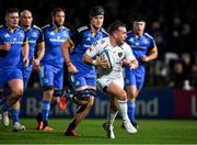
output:
{"label": "white sock on the ball carrier's right-hand leg", "polygon": [[118,110],[124,121],[129,120],[127,112],[127,100],[117,100]]}

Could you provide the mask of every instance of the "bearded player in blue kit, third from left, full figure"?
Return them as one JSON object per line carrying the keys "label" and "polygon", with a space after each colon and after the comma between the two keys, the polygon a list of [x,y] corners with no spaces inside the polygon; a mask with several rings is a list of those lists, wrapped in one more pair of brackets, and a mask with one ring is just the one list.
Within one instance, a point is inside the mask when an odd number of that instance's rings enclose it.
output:
{"label": "bearded player in blue kit, third from left, full figure", "polygon": [[[70,31],[63,26],[66,13],[61,8],[55,8],[51,12],[53,23],[43,29],[45,41],[45,55],[40,62],[39,77],[44,96],[42,101],[42,114],[38,120],[38,130],[51,132],[48,125],[48,115],[53,96],[60,97],[63,85],[63,57],[61,53],[62,43],[69,37]],[[55,98],[54,102],[58,102]]]}

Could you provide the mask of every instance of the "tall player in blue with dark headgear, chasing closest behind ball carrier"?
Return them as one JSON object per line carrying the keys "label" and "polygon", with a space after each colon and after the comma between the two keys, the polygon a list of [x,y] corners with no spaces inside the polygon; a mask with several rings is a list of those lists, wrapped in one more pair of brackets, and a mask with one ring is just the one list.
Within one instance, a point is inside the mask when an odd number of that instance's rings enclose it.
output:
{"label": "tall player in blue with dark headgear, chasing closest behind ball carrier", "polygon": [[79,104],[72,122],[65,131],[65,135],[77,136],[74,129],[88,115],[96,96],[96,71],[93,66],[82,62],[85,51],[97,40],[107,36],[102,29],[104,9],[100,5],[90,10],[90,24],[81,26],[63,43],[62,54],[71,76],[74,89],[72,101]]}

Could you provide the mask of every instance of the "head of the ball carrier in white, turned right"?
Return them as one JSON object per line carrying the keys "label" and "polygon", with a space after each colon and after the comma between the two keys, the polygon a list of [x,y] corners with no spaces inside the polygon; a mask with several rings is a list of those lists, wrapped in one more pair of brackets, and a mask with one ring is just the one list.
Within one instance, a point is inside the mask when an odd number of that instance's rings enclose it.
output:
{"label": "head of the ball carrier in white, turned right", "polygon": [[127,30],[124,26],[118,27],[118,30],[115,32],[116,43],[118,46],[123,45],[125,43],[125,40],[127,37]]}

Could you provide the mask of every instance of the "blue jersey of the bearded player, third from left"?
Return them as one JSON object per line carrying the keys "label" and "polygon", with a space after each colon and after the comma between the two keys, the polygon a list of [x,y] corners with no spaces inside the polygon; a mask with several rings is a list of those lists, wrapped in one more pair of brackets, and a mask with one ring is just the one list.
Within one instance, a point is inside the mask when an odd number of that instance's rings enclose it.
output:
{"label": "blue jersey of the bearded player, third from left", "polygon": [[51,24],[43,27],[45,41],[45,55],[42,64],[50,64],[62,68],[63,57],[61,53],[62,43],[70,36],[70,30],[62,26],[57,31]]}

